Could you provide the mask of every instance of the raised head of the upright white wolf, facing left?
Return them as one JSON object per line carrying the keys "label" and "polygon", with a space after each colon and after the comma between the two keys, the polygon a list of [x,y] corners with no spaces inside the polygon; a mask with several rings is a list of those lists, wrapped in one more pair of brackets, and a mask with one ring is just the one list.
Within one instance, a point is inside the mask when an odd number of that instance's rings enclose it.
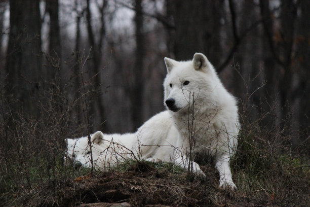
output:
{"label": "raised head of the upright white wolf, facing left", "polygon": [[[192,60],[176,61],[165,57],[167,76],[164,81],[165,105],[178,112],[192,104],[207,101],[218,79],[212,64],[202,53],[195,53]],[[220,83],[219,83],[220,84]]]}

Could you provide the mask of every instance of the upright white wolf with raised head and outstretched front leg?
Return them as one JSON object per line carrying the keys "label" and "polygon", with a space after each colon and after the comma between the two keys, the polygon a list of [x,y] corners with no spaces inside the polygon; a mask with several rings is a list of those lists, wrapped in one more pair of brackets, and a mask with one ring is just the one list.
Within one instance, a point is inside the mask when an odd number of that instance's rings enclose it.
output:
{"label": "upright white wolf with raised head and outstretched front leg", "polygon": [[229,159],[237,148],[237,101],[224,88],[207,57],[196,53],[192,61],[165,58],[165,103],[178,129],[177,146],[185,152],[208,153],[215,158],[219,186],[236,190]]}

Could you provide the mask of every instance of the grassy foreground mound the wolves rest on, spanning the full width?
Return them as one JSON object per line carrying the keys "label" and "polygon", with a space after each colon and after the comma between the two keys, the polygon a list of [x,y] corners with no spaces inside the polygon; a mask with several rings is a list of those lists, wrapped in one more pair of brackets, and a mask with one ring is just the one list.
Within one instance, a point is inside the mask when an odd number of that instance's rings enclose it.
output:
{"label": "grassy foreground mound the wolves rest on, spanning the full width", "polygon": [[[240,152],[241,153],[241,152]],[[240,155],[238,155],[240,156]],[[234,163],[244,160],[234,160]],[[64,182],[43,183],[32,189],[3,193],[4,206],[76,206],[94,202],[129,202],[134,206],[309,206],[309,170],[301,160],[283,156],[282,167],[273,168],[267,159],[247,160],[236,166],[238,192],[221,190],[212,163],[202,165],[207,179],[192,176],[171,163],[130,161],[109,172],[74,177]],[[232,163],[232,164],[234,164]],[[268,166],[266,166],[268,165]],[[265,167],[264,169],[261,167]],[[256,175],[254,175],[256,174]]]}

